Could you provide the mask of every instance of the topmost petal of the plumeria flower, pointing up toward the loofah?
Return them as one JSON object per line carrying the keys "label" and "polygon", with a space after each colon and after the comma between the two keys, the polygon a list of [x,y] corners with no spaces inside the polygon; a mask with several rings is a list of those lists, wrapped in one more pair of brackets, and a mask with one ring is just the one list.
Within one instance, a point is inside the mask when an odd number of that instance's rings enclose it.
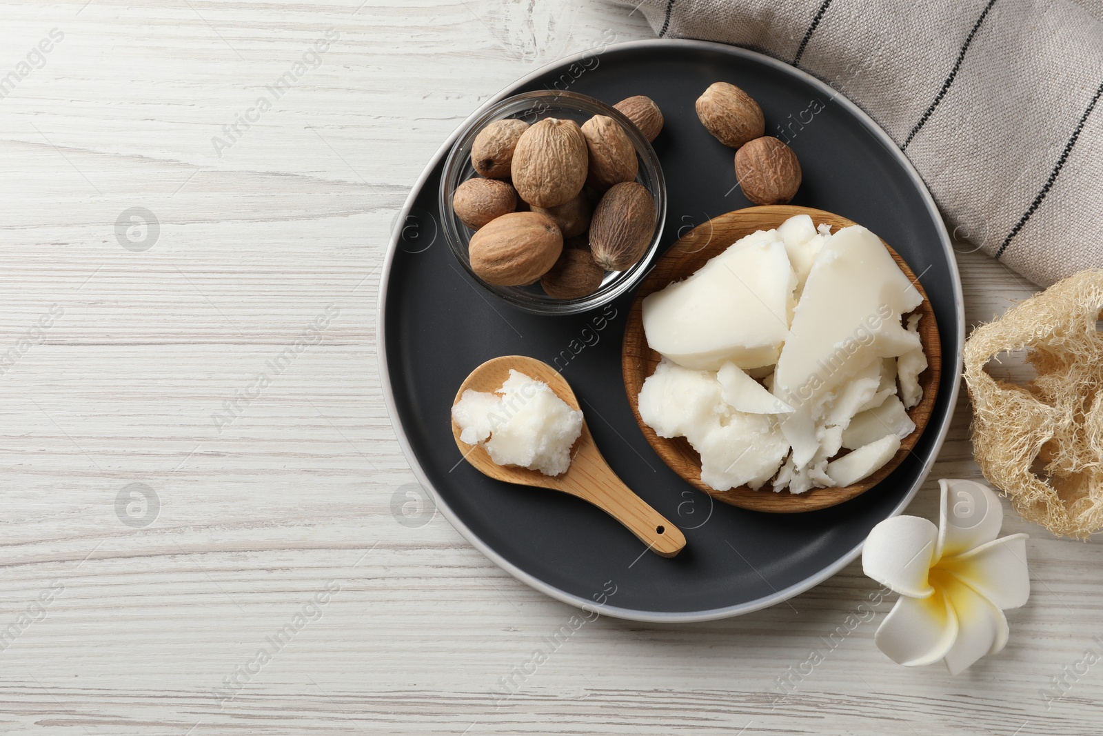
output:
{"label": "topmost petal of the plumeria flower, pointing up toward the loofah", "polygon": [[1004,524],[999,497],[972,480],[940,480],[942,509],[939,519],[939,548],[934,559],[967,552],[992,542]]}

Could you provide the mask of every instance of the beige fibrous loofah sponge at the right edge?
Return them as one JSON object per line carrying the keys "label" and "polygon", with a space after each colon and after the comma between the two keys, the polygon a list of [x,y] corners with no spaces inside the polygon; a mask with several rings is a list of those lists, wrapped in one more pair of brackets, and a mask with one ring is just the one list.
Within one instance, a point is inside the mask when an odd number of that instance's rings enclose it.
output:
{"label": "beige fibrous loofah sponge at the right edge", "polygon": [[[1103,529],[1103,269],[1054,284],[982,324],[965,342],[973,450],[984,477],[1015,510],[1061,536]],[[1024,386],[984,366],[1027,350]]]}

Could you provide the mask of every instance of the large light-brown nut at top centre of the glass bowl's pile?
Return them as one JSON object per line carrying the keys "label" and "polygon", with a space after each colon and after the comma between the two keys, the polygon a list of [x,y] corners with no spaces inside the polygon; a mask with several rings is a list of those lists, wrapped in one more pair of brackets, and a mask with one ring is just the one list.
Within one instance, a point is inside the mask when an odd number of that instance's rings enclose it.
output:
{"label": "large light-brown nut at top centre of the glass bowl's pile", "polygon": [[570,202],[586,183],[589,153],[574,120],[544,118],[521,134],[513,150],[513,185],[536,207]]}

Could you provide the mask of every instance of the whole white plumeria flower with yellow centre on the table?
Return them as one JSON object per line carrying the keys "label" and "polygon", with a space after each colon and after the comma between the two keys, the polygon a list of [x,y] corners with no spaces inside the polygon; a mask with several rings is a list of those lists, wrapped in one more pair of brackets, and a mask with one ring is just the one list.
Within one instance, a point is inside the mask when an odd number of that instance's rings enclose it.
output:
{"label": "whole white plumeria flower with yellow centre on the table", "polygon": [[996,538],[1004,509],[987,486],[940,480],[939,526],[893,516],[869,533],[866,575],[900,594],[874,636],[877,648],[906,666],[944,660],[957,674],[1007,643],[1003,609],[1030,596],[1026,534]]}

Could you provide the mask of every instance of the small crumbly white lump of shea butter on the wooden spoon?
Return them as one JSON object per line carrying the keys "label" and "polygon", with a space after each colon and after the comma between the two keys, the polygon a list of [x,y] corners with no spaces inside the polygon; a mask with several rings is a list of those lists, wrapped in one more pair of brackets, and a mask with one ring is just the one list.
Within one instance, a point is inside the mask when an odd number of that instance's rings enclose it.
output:
{"label": "small crumbly white lump of shea butter on the wooden spoon", "polygon": [[558,476],[570,467],[570,448],[582,434],[582,413],[543,381],[510,370],[495,393],[463,392],[452,406],[460,439],[479,445],[500,466]]}

